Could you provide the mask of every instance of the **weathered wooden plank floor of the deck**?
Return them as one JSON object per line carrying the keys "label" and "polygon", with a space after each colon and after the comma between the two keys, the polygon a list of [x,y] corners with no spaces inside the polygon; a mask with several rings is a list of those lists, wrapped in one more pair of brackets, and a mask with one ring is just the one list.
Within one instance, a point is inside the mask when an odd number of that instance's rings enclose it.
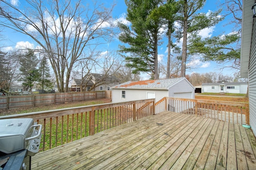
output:
{"label": "weathered wooden plank floor of the deck", "polygon": [[32,169],[256,169],[241,125],[165,111],[32,156]]}

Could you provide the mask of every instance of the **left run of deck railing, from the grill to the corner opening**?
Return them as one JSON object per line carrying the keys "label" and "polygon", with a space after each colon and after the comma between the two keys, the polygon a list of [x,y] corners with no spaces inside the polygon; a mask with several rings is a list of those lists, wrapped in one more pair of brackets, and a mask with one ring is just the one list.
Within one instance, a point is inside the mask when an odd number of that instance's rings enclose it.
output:
{"label": "left run of deck railing, from the grill to the corner opening", "polygon": [[33,118],[42,124],[40,151],[43,151],[153,115],[154,111],[154,99],[148,99],[8,115],[0,119]]}

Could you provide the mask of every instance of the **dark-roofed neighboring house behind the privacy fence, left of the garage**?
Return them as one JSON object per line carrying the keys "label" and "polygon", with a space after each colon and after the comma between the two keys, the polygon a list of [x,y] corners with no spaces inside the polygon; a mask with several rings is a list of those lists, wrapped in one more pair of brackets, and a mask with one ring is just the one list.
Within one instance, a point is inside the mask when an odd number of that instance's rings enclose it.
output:
{"label": "dark-roofed neighboring house behind the privacy fence, left of the garage", "polygon": [[115,76],[104,76],[104,74],[91,73],[83,82],[82,79],[72,79],[71,90],[74,92],[81,92],[81,86],[84,89],[84,92],[110,90],[110,87],[119,84],[119,81]]}

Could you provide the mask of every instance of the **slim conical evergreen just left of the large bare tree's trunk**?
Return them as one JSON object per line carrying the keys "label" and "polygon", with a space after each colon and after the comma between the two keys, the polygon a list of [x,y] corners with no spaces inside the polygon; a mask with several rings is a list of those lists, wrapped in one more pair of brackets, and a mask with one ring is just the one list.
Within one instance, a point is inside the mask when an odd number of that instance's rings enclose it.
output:
{"label": "slim conical evergreen just left of the large bare tree's trunk", "polygon": [[38,85],[39,85],[39,88],[42,89],[42,92],[44,92],[45,88],[52,89],[53,83],[50,79],[51,77],[50,67],[45,56],[40,61],[38,71],[40,74],[40,77],[38,79],[38,83],[39,83]]}

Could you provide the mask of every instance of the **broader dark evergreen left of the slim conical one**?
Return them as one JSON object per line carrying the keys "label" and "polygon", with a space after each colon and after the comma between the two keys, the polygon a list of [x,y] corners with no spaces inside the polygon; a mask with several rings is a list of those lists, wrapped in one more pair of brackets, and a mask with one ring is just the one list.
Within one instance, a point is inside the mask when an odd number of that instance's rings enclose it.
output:
{"label": "broader dark evergreen left of the slim conical one", "polygon": [[28,50],[24,55],[20,55],[20,71],[22,78],[22,85],[25,90],[32,90],[34,83],[38,81],[40,74],[37,69],[39,60],[32,50]]}

